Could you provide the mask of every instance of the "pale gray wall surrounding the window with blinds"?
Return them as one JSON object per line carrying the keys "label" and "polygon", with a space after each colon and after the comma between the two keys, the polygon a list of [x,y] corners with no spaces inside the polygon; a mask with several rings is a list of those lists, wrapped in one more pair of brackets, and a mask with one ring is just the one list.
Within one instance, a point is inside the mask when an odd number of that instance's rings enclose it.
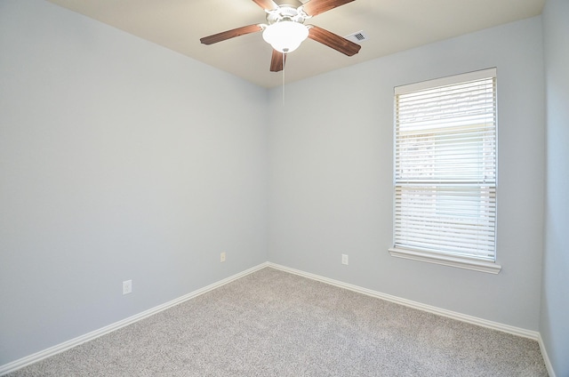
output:
{"label": "pale gray wall surrounding the window with blinds", "polygon": [[[391,257],[394,86],[491,67],[498,69],[501,273]],[[287,84],[284,105],[281,92],[270,92],[271,113],[289,116],[270,124],[269,261],[538,330],[545,156],[541,17]],[[341,253],[349,254],[349,266],[341,265]]]}

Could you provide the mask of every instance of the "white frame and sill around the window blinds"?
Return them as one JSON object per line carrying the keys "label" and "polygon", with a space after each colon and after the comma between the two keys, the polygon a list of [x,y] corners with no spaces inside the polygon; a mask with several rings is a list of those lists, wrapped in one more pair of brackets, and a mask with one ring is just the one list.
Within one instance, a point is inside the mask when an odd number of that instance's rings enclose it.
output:
{"label": "white frame and sill around the window blinds", "polygon": [[[394,137],[393,137],[393,243],[392,247],[389,248],[389,253],[391,256],[397,258],[404,258],[410,259],[414,261],[425,261],[430,263],[436,263],[445,266],[452,266],[461,269],[471,269],[481,272],[487,272],[492,274],[498,274],[501,271],[501,266],[497,263],[497,253],[496,253],[496,245],[497,245],[497,227],[494,223],[494,231],[493,231],[493,259],[481,256],[470,256],[467,254],[458,254],[458,253],[449,253],[448,251],[437,251],[433,250],[432,248],[421,248],[418,247],[399,247],[396,246],[396,231],[397,231],[397,189],[400,192],[403,191],[403,184],[397,181],[397,96],[404,93],[409,92],[419,92],[424,90],[431,90],[438,87],[444,87],[447,85],[460,85],[469,81],[474,80],[481,80],[486,79],[488,77],[493,77],[494,86],[493,86],[493,100],[496,103],[496,107],[494,109],[494,139],[493,139],[493,154],[494,154],[494,167],[493,167],[493,174],[494,174],[494,183],[493,189],[494,194],[497,191],[498,187],[498,132],[497,132],[497,69],[496,68],[488,68],[483,70],[478,70],[474,72],[469,72],[460,75],[454,76],[446,76],[442,78],[437,78],[434,80],[428,80],[420,83],[414,84],[407,84],[401,85],[394,88]],[[437,126],[433,126],[432,129],[435,129]],[[494,210],[497,208],[497,203],[494,204]],[[399,227],[400,229],[400,227]]]}

